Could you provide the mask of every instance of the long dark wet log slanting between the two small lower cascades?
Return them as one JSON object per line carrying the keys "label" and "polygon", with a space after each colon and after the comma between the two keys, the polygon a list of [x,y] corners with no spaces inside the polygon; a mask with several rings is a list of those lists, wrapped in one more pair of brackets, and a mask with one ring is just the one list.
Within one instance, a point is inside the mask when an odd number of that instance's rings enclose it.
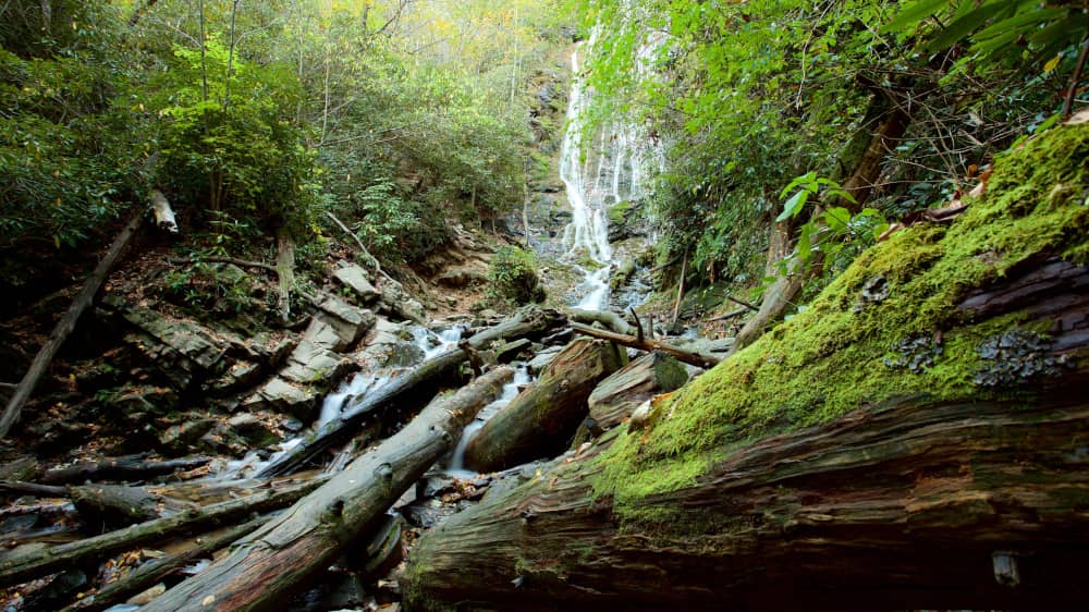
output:
{"label": "long dark wet log slanting between the two small lower cascades", "polygon": [[[529,308],[514,319],[484,330],[466,343],[474,350],[485,348],[495,341],[541,334],[552,329],[560,316],[554,310]],[[344,411],[340,417],[298,443],[283,456],[269,464],[258,475],[270,478],[301,469],[315,457],[355,436],[360,423],[393,407],[423,405],[438,391],[440,382],[451,378],[462,363],[468,359],[464,348],[454,348],[432,357],[412,371],[404,374],[380,389],[367,394],[359,404]]]}

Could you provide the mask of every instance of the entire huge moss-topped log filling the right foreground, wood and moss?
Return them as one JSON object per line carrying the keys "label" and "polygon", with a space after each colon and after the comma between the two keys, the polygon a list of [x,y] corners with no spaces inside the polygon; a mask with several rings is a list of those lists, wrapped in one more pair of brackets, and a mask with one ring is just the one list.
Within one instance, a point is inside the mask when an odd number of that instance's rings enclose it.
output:
{"label": "entire huge moss-topped log filling the right foreground, wood and moss", "polygon": [[[425,534],[412,609],[1085,609],[1089,126],[570,461]],[[560,603],[558,603],[560,602]]]}

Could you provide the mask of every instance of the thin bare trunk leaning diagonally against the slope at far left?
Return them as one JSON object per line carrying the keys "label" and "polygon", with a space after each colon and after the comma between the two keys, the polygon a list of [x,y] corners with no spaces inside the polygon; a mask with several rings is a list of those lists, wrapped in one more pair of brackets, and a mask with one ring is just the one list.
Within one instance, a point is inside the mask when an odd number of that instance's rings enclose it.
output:
{"label": "thin bare trunk leaning diagonally against the slope at far left", "polygon": [[110,269],[113,268],[113,264],[117,262],[118,258],[124,252],[129,243],[132,242],[133,236],[136,235],[136,230],[139,229],[140,220],[143,215],[133,215],[133,218],[129,223],[121,230],[121,232],[113,238],[113,244],[110,245],[109,250],[102,257],[101,261],[95,268],[95,271],[87,277],[86,282],[83,284],[83,289],[79,290],[79,294],[76,295],[72,305],[69,307],[68,313],[61,317],[61,320],[57,322],[57,327],[53,328],[52,333],[49,334],[49,340],[46,341],[41,350],[30,362],[30,367],[27,368],[26,374],[23,376],[23,380],[20,381],[19,387],[12,393],[11,399],[8,400],[8,405],[4,407],[3,415],[0,416],[0,439],[8,436],[11,431],[11,427],[15,425],[19,420],[20,412],[23,409],[23,405],[26,401],[30,399],[30,394],[34,393],[34,389],[38,385],[41,377],[46,374],[49,368],[49,364],[53,360],[57,352],[60,351],[61,345],[64,344],[64,340],[68,339],[69,334],[75,329],[76,322],[79,320],[79,315],[90,306],[91,302],[95,301],[95,294],[98,293],[98,289],[102,286],[106,281],[106,277],[110,273]]}

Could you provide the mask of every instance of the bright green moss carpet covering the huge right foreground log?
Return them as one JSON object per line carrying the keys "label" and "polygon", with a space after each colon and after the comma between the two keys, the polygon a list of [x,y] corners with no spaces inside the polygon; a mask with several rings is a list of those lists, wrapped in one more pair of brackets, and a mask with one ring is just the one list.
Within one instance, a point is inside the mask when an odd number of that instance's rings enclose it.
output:
{"label": "bright green moss carpet covering the huge right foreground log", "polygon": [[[622,518],[659,522],[672,511],[644,503],[648,495],[693,484],[756,438],[895,397],[1008,394],[972,383],[977,347],[1024,317],[972,321],[956,305],[1029,261],[1087,261],[1086,159],[1085,125],[1001,158],[988,194],[952,225],[910,228],[864,253],[809,308],[656,408],[644,434],[621,438],[599,460],[596,493],[611,494]],[[888,295],[860,299],[874,279]],[[941,351],[926,367],[886,365],[905,340],[938,332]]]}

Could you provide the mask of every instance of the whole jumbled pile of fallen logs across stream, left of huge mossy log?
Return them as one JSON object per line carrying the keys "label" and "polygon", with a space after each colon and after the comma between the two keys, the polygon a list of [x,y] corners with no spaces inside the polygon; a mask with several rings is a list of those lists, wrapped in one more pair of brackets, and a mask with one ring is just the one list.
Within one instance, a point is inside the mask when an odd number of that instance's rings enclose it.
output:
{"label": "whole jumbled pile of fallen logs across stream, left of huge mossy log", "polygon": [[[613,321],[614,328],[620,321],[608,314],[575,313],[571,318]],[[255,479],[155,486],[147,482],[198,469],[210,460],[121,457],[41,472],[33,475],[33,482],[0,482],[0,494],[16,500],[0,518],[33,515],[40,523],[41,517],[68,516],[70,524],[83,527],[66,528],[71,541],[52,546],[34,541],[34,533],[9,538],[9,546],[21,546],[0,553],[0,588],[56,576],[53,584],[68,588],[51,589],[53,599],[48,603],[39,599],[37,607],[102,610],[162,583],[175,586],[146,609],[281,609],[285,597],[379,529],[387,511],[450,453],[464,426],[512,378],[513,369],[501,363],[524,354],[529,339],[570,341],[538,372],[538,380],[473,438],[466,451],[469,467],[500,470],[555,456],[573,438],[585,441],[617,425],[637,403],[687,378],[666,354],[700,366],[714,362],[645,338],[641,326],[636,327],[640,328],[636,335],[626,335],[570,322],[555,311],[525,310],[372,391]],[[590,338],[571,340],[573,330]],[[621,345],[659,352],[628,364]],[[477,375],[469,383],[437,394],[466,368]],[[610,387],[607,380],[615,382]],[[617,408],[617,401],[626,407]],[[353,438],[363,424],[404,415],[406,409],[412,413],[425,403],[401,431],[365,449],[342,472],[306,470],[345,446],[354,449]],[[87,531],[97,535],[73,539]],[[51,535],[57,536],[56,529]],[[188,543],[176,552],[145,562],[115,582],[94,582],[110,559],[184,539]],[[217,551],[208,568],[178,582],[183,567]]]}

